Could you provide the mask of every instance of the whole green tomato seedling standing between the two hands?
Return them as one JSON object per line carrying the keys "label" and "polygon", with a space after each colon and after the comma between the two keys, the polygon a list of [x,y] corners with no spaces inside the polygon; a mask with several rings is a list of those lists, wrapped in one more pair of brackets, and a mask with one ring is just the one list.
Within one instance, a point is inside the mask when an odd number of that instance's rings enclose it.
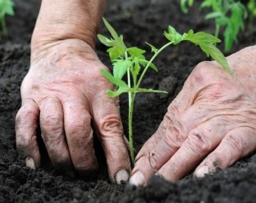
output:
{"label": "whole green tomato seedling standing between the two hands", "polygon": [[[201,50],[206,53],[207,56],[211,56],[215,59],[228,73],[232,73],[225,56],[221,51],[216,48],[215,44],[221,42],[220,39],[212,36],[205,32],[196,32],[190,30],[183,35],[179,34],[175,28],[169,26],[168,31],[164,32],[168,42],[161,48],[146,44],[150,46],[151,52],[153,53],[150,60],[145,58],[145,50],[131,47],[127,48],[123,41],[123,35],[118,35],[114,28],[103,19],[106,28],[111,33],[112,38],[107,38],[104,35],[98,34],[98,39],[102,44],[109,47],[107,52],[112,61],[113,75],[108,71],[101,69],[101,74],[104,75],[109,82],[116,86],[116,90],[107,90],[106,94],[109,97],[116,97],[122,93],[127,93],[129,97],[129,143],[130,143],[130,157],[134,164],[134,150],[133,150],[133,108],[134,100],[137,93],[167,93],[161,90],[144,89],[140,88],[141,82],[148,68],[152,68],[158,71],[158,68],[153,64],[155,58],[170,45],[177,45],[182,41],[189,41],[195,45],[200,46]],[[123,80],[123,76],[127,75],[127,83]]]}

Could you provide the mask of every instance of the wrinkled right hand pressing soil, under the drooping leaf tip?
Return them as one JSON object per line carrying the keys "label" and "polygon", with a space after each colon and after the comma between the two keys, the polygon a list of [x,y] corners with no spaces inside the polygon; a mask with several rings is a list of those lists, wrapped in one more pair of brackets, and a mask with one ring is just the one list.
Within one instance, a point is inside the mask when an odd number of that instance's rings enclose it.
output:
{"label": "wrinkled right hand pressing soil, under the drooping leaf tip", "polygon": [[215,61],[195,67],[157,132],[136,157],[130,183],[157,173],[176,181],[195,169],[202,177],[256,148],[256,46],[227,57],[233,75]]}

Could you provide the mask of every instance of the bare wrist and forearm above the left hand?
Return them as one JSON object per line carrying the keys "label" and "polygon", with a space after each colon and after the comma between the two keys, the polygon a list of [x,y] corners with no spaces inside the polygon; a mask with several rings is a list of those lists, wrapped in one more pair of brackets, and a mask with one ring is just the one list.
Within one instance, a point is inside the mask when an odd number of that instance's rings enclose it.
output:
{"label": "bare wrist and forearm above the left hand", "polygon": [[67,39],[80,39],[94,49],[104,0],[42,0],[31,39],[31,52]]}

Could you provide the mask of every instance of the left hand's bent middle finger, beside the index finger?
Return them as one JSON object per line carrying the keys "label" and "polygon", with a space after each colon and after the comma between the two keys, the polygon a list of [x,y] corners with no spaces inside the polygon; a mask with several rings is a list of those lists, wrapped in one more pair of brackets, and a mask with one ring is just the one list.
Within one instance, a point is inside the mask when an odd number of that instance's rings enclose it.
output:
{"label": "left hand's bent middle finger, beside the index finger", "polygon": [[90,108],[80,99],[68,99],[63,108],[66,139],[74,168],[80,175],[86,175],[98,168]]}

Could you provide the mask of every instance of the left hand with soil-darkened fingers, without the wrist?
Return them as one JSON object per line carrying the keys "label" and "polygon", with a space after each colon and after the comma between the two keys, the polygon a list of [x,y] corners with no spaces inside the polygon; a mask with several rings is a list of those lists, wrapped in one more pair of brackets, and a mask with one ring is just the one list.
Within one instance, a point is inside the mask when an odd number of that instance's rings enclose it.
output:
{"label": "left hand with soil-darkened fingers, without the wrist", "polygon": [[[38,58],[38,56],[40,56]],[[38,120],[55,168],[81,174],[98,168],[93,129],[101,141],[112,182],[129,178],[130,160],[118,100],[106,96],[113,86],[99,73],[106,68],[79,39],[66,39],[33,53],[21,87],[16,115],[17,150],[30,168],[40,166]],[[42,156],[44,154],[41,154]]]}

